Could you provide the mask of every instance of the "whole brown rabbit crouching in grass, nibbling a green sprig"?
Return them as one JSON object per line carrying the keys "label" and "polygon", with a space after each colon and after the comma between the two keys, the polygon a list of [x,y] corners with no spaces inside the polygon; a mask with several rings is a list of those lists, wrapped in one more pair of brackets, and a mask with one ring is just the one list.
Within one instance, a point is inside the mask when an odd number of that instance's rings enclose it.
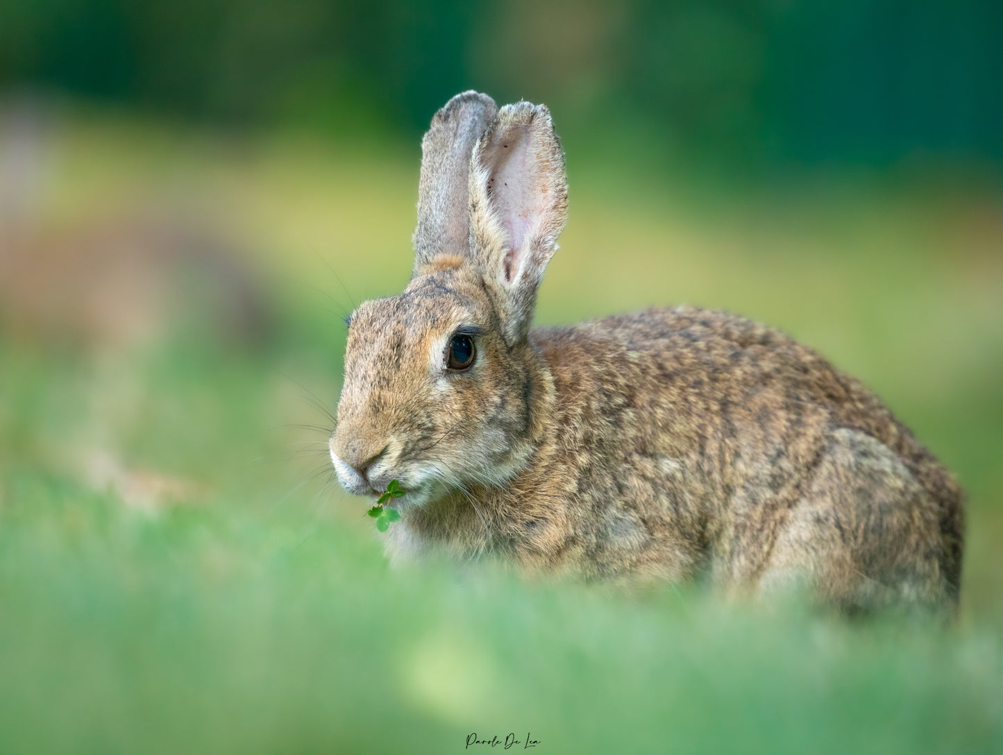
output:
{"label": "whole brown rabbit crouching in grass, nibbling a green sprig", "polygon": [[530,329],[567,208],[546,106],[435,114],[413,277],[348,318],[329,443],[348,492],[407,491],[391,561],[953,615],[962,489],[860,381],[724,312]]}

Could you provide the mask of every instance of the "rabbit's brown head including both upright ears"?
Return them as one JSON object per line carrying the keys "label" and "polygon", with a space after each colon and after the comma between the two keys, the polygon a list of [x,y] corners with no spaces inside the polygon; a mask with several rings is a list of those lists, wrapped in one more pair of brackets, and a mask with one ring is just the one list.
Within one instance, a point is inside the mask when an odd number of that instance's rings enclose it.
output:
{"label": "rabbit's brown head including both upright ears", "polygon": [[567,216],[543,105],[453,97],[422,140],[414,272],[349,321],[330,450],[349,492],[398,479],[403,504],[500,484],[541,432],[549,383],[528,334]]}

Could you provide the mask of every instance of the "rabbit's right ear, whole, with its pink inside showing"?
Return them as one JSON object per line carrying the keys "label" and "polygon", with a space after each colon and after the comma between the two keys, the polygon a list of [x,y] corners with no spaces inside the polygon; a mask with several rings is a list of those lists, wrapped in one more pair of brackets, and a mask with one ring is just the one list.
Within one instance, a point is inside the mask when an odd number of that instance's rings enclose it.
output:
{"label": "rabbit's right ear, whole, with its pink inside showing", "polygon": [[473,253],[506,342],[525,339],[537,288],[568,218],[564,152],[544,105],[506,105],[474,147]]}

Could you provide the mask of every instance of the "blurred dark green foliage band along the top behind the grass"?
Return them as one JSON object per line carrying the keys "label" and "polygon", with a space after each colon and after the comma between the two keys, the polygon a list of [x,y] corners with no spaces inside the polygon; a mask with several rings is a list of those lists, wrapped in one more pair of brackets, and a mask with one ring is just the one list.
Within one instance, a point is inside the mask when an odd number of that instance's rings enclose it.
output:
{"label": "blurred dark green foliage band along the top behind the grass", "polygon": [[410,143],[474,87],[642,164],[998,165],[1001,36],[994,0],[4,0],[0,91]]}

